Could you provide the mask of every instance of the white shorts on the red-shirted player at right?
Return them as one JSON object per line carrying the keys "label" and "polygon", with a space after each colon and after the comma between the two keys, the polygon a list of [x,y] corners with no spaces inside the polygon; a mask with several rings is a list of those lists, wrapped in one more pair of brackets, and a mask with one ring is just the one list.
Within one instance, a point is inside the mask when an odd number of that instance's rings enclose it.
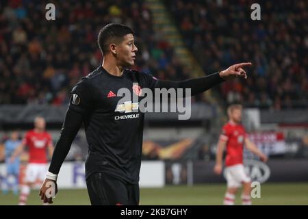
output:
{"label": "white shorts on the red-shirted player at right", "polygon": [[251,178],[246,175],[243,164],[235,164],[225,169],[228,188],[239,188],[242,183],[250,183]]}

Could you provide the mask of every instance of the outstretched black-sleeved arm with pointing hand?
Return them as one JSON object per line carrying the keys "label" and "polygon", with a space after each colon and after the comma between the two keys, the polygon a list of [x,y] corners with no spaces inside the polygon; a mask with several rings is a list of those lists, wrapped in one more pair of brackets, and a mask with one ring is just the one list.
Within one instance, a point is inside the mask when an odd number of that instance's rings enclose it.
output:
{"label": "outstretched black-sleeved arm with pointing hand", "polygon": [[251,66],[251,62],[234,64],[226,70],[222,70],[218,73],[207,75],[205,77],[198,77],[196,79],[188,79],[185,81],[158,81],[157,88],[190,88],[191,94],[195,95],[209,88],[216,86],[227,79],[233,79],[234,77],[244,77],[247,78],[246,72],[243,69],[244,66]]}

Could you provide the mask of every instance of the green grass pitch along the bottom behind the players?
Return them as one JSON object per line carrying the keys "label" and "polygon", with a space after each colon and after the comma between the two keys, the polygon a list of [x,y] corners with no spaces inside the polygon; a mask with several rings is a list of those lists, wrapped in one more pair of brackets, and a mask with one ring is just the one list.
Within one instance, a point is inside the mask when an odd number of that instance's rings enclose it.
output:
{"label": "green grass pitch along the bottom behind the players", "polygon": [[[142,188],[140,205],[221,205],[225,184],[166,186]],[[236,205],[240,205],[240,193]],[[264,183],[261,198],[253,198],[253,205],[308,205],[308,183]],[[16,205],[18,196],[0,193],[0,205]],[[38,190],[31,191],[28,205],[41,205]],[[90,205],[86,190],[59,190],[54,205]]]}

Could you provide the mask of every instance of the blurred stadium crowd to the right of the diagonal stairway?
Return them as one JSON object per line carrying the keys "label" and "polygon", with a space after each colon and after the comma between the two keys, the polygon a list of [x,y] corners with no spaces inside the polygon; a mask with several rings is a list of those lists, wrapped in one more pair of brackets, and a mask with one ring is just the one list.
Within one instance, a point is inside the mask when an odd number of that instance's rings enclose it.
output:
{"label": "blurred stadium crowd to the right of the diagonal stairway", "polygon": [[276,110],[307,107],[307,1],[263,1],[252,21],[251,1],[165,1],[185,43],[205,72],[253,62],[248,80],[223,83],[229,103]]}

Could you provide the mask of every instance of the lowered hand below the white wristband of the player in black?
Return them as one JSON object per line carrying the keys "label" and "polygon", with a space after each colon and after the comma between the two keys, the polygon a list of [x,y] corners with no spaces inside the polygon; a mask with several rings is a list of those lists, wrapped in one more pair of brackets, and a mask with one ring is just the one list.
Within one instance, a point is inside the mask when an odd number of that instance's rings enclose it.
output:
{"label": "lowered hand below the white wristband of the player in black", "polygon": [[40,199],[43,203],[53,203],[53,198],[57,194],[57,182],[51,179],[45,179],[40,187]]}

